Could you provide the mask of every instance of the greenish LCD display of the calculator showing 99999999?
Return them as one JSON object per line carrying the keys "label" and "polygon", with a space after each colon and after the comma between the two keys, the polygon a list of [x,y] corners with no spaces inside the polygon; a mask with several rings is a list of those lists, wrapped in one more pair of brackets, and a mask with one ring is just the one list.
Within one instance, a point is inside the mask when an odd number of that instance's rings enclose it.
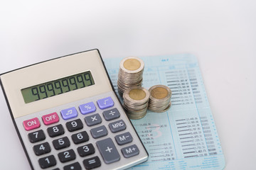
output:
{"label": "greenish LCD display of the calculator showing 99999999", "polygon": [[95,84],[95,82],[92,78],[92,74],[90,71],[87,71],[69,77],[48,81],[36,86],[30,86],[26,89],[21,89],[21,94],[25,103],[31,103],[43,98],[64,94],[68,91],[82,89],[93,84]]}

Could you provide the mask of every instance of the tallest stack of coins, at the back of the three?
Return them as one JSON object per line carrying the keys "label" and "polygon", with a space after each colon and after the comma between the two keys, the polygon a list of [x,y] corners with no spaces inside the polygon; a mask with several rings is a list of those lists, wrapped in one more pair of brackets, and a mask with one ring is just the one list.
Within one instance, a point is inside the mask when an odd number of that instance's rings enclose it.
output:
{"label": "tallest stack of coins, at the back of the three", "polygon": [[118,92],[122,96],[124,91],[132,86],[142,86],[144,62],[138,57],[126,57],[119,65]]}

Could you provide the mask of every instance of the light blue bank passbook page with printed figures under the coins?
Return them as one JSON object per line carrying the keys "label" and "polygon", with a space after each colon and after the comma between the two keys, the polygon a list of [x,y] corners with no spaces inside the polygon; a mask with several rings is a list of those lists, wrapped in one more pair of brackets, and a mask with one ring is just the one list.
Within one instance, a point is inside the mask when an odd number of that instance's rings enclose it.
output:
{"label": "light blue bank passbook page with printed figures under the coins", "polygon": [[[172,96],[169,111],[147,111],[144,118],[132,120],[149,152],[149,160],[132,169],[224,169],[225,159],[196,57],[140,58],[145,65],[142,86],[149,89],[163,84],[169,86]],[[104,60],[116,91],[121,60]]]}

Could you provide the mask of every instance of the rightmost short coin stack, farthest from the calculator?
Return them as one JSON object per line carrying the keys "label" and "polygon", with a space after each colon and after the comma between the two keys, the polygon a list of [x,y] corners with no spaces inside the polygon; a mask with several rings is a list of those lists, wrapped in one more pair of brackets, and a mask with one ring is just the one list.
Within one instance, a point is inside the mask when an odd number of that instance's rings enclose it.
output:
{"label": "rightmost short coin stack, farthest from the calculator", "polygon": [[164,85],[151,86],[149,89],[149,110],[165,112],[171,107],[171,89]]}

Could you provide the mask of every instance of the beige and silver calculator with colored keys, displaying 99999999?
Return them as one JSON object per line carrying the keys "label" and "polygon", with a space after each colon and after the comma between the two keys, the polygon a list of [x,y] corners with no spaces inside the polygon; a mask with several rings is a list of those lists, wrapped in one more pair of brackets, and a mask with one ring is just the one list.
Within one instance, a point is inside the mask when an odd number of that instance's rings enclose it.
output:
{"label": "beige and silver calculator with colored keys, displaying 99999999", "polygon": [[127,169],[148,159],[99,50],[16,69],[0,80],[31,169]]}

